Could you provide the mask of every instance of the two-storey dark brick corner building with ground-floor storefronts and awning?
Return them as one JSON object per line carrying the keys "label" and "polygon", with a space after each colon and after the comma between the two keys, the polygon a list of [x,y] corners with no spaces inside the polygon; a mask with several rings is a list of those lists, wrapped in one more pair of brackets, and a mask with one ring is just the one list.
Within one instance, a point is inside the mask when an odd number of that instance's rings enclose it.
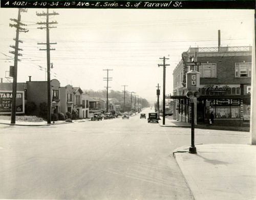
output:
{"label": "two-storey dark brick corner building with ground-floor storefronts and awning", "polygon": [[[189,48],[173,72],[175,119],[189,122],[189,99],[186,98],[186,73],[200,72],[200,97],[197,99],[197,122],[248,126],[250,120],[251,47]],[[200,62],[187,66],[188,61]],[[255,67],[255,66],[254,66]]]}

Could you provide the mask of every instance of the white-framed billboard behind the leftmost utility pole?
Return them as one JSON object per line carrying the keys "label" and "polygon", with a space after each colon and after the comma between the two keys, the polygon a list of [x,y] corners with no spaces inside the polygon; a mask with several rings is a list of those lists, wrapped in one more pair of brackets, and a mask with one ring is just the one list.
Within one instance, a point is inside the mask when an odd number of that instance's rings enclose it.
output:
{"label": "white-framed billboard behind the leftmost utility pole", "polygon": [[[12,91],[0,91],[0,114],[11,114],[12,112]],[[25,113],[24,91],[17,91],[16,114]]]}

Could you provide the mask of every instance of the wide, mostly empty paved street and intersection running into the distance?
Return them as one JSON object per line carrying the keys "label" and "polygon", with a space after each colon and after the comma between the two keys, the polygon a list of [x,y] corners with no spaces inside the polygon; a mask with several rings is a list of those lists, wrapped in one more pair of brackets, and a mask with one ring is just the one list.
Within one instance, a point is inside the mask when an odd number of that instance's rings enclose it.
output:
{"label": "wide, mostly empty paved street and intersection running into the distance", "polygon": [[[148,124],[139,115],[0,128],[0,198],[193,199],[172,154],[190,144],[190,128]],[[249,132],[195,134],[196,144],[249,142]]]}

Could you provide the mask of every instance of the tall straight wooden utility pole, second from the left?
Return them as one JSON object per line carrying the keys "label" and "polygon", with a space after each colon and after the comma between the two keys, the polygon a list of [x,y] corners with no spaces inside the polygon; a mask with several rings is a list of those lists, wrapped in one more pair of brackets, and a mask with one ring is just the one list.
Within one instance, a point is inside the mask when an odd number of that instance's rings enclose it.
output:
{"label": "tall straight wooden utility pole, second from the left", "polygon": [[55,43],[50,43],[50,32],[49,29],[51,28],[56,28],[53,26],[49,26],[52,24],[57,24],[57,21],[52,21],[49,22],[49,16],[50,15],[58,15],[58,13],[53,12],[49,13],[49,9],[47,8],[47,13],[42,12],[42,13],[37,13],[37,16],[46,16],[46,22],[40,22],[37,23],[38,25],[45,25],[46,27],[39,27],[37,29],[46,29],[46,43],[37,43],[37,45],[46,45],[46,49],[39,49],[40,51],[46,51],[47,52],[47,123],[51,124],[51,73],[50,73],[50,65],[51,65],[51,59],[50,59],[50,51],[55,50],[51,49],[50,45],[56,45]]}

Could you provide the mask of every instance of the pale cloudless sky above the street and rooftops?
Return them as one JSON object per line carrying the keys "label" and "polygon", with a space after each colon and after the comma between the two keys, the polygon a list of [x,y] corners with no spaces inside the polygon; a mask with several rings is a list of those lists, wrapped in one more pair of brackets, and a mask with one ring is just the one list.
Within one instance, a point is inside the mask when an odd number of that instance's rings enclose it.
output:
{"label": "pale cloudless sky above the street and rooftops", "polygon": [[[36,15],[46,9],[28,9],[21,20],[29,30],[20,33],[17,81],[47,80],[46,30],[38,29],[45,17]],[[167,58],[166,95],[173,93],[173,70],[189,47],[221,45],[251,46],[254,35],[254,10],[231,9],[50,9],[57,28],[50,29],[51,79],[60,86],[71,84],[82,90],[106,90],[106,69],[110,69],[109,90],[134,92],[149,102],[157,100],[156,89],[163,85],[163,64]],[[0,8],[0,77],[7,79],[13,65],[17,8]],[[162,91],[161,91],[162,94]]]}

